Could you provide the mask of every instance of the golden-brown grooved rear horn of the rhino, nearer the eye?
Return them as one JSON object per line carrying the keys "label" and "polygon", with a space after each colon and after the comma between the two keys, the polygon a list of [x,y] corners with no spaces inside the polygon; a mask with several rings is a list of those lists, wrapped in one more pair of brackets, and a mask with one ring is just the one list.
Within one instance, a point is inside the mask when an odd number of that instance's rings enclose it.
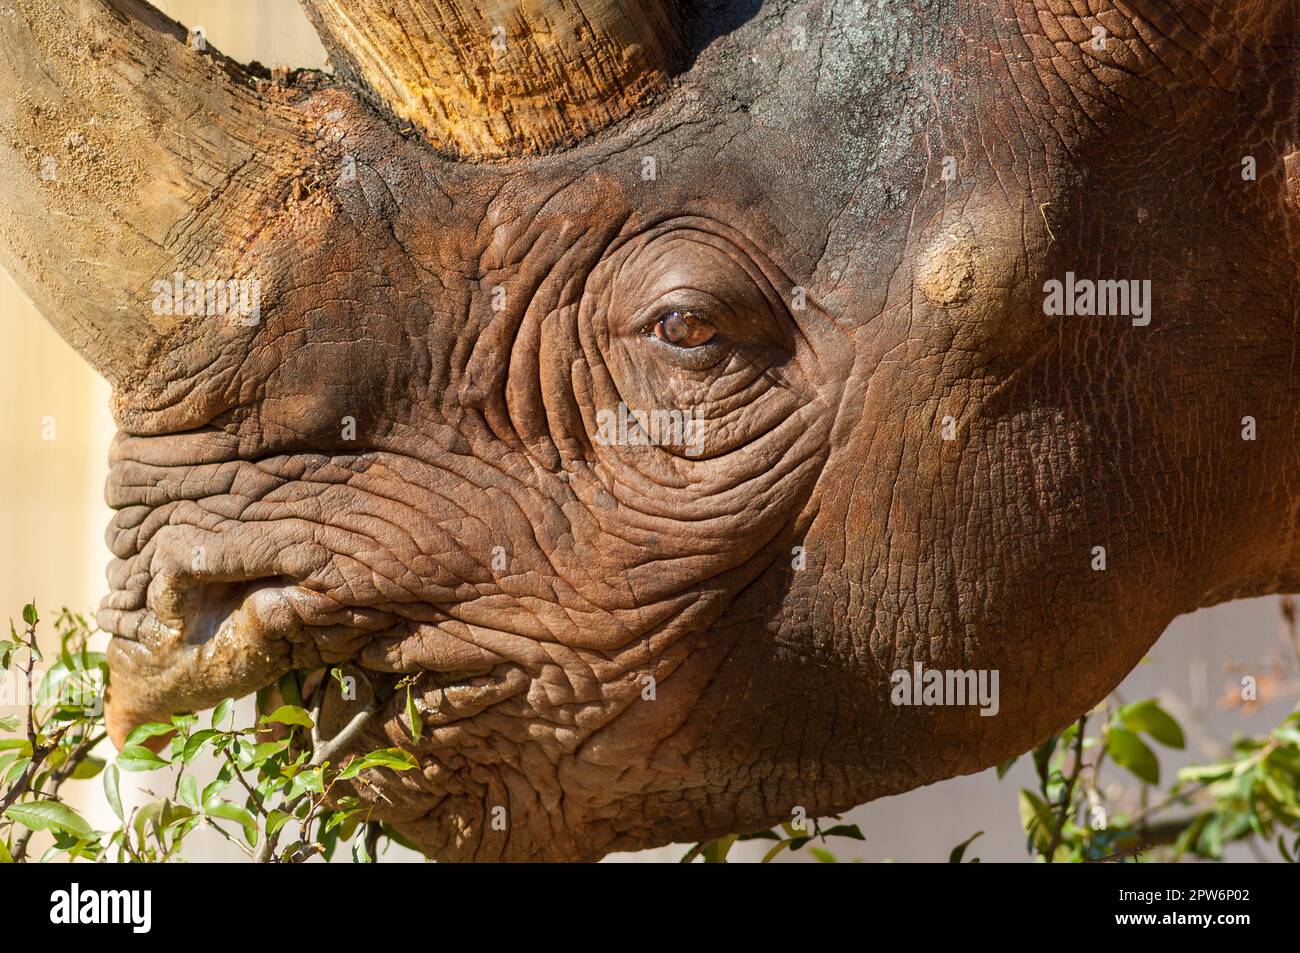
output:
{"label": "golden-brown grooved rear horn of the rhino, nearer the eye", "polygon": [[460,159],[538,152],[627,116],[684,60],[658,0],[304,0],[335,69]]}

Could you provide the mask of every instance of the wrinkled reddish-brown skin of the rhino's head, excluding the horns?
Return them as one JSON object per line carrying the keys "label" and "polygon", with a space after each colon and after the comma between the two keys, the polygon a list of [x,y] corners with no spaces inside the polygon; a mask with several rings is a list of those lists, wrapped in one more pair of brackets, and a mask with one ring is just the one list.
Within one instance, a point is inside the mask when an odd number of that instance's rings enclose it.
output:
{"label": "wrinkled reddish-brown skin of the rhino's head, excluding the horns", "polygon": [[[56,319],[118,384],[114,736],[350,663],[384,697],[358,748],[422,766],[380,811],[430,855],[595,858],[982,770],[1175,615],[1295,590],[1295,38],[1277,4],[1136,7],[708,14],[659,105],[491,164],[256,85],[280,146],[135,267],[256,274],[260,324],[124,359]],[[1152,322],[1046,317],[1067,270],[1150,280]],[[682,308],[716,338],[656,339]],[[619,400],[698,411],[703,454],[599,445]],[[998,670],[998,715],[893,706],[914,662]]]}

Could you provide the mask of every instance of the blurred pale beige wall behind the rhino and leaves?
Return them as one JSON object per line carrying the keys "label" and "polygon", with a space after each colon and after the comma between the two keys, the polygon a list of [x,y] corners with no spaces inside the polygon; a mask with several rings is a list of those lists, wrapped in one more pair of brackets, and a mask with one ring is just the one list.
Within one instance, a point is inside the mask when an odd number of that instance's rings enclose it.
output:
{"label": "blurred pale beige wall behind the rhino and leaves", "polygon": [[[155,0],[186,26],[240,61],[268,66],[320,68],[325,53],[295,0]],[[109,554],[103,542],[109,511],[103,502],[113,425],[108,386],[35,313],[13,281],[0,272],[0,618],[17,616],[35,598],[51,618],[66,605],[92,611],[104,593]],[[52,429],[51,429],[52,426]],[[1223,753],[1235,731],[1266,731],[1295,702],[1294,696],[1253,711],[1221,707],[1217,699],[1240,683],[1274,672],[1295,680],[1295,659],[1280,637],[1278,601],[1249,599],[1184,616],[1124,681],[1126,701],[1158,696],[1188,729],[1188,750],[1162,749],[1165,772]],[[124,780],[126,780],[124,777]],[[1108,784],[1127,784],[1113,774]],[[1001,781],[992,770],[864,805],[848,819],[867,835],[862,844],[835,841],[841,859],[944,861],[976,831],[968,857],[1023,861],[1024,837],[1017,813],[1018,788],[1034,788],[1022,759]],[[1130,785],[1131,788],[1132,785]],[[98,787],[90,797],[98,793]],[[142,796],[143,797],[143,796]],[[91,820],[94,811],[91,813]],[[107,809],[103,809],[107,810]],[[108,822],[107,816],[100,820]],[[738,845],[736,859],[760,857],[762,842]],[[621,854],[612,861],[677,859],[684,848]],[[196,836],[190,859],[239,859],[216,835]],[[1234,859],[1252,859],[1245,848]],[[396,850],[387,859],[415,859]],[[803,855],[784,859],[806,859]]]}

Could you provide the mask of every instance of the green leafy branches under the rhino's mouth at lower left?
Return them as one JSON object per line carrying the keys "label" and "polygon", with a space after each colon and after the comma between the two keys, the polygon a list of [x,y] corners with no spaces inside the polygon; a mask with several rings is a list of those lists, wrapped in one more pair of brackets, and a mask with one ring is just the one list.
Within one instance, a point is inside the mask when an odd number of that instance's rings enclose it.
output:
{"label": "green leafy branches under the rhino's mouth at lower left", "polygon": [[[264,863],[299,863],[329,858],[351,841],[352,857],[374,861],[385,841],[406,844],[389,826],[373,819],[348,785],[368,785],[373,771],[410,771],[417,766],[406,750],[385,748],[348,754],[377,710],[377,694],[367,683],[365,701],[333,736],[322,731],[326,692],[342,692],[350,703],[355,679],[339,670],[292,672],[274,697],[282,703],[266,712],[272,693],[259,697],[260,716],[248,727],[234,727],[234,699],[221,702],[204,724],[196,715],[136,727],[112,761],[95,754],[107,746],[103,697],[108,663],[88,649],[92,634],[86,620],[68,612],[56,623],[58,659],[38,681],[42,662],[36,645],[39,616],[23,608],[25,629],[10,625],[12,641],[0,642],[5,670],[17,658],[26,686],[25,716],[0,719],[0,862],[26,859],[34,835],[51,845],[49,859],[116,859],[160,863],[179,855],[185,839],[199,827],[212,829]],[[311,710],[303,686],[315,684]],[[173,772],[166,796],[150,793],[148,802],[126,810],[122,772]],[[68,805],[69,781],[100,777],[103,796],[118,820],[110,829],[94,829]],[[283,845],[281,845],[283,841]]]}

